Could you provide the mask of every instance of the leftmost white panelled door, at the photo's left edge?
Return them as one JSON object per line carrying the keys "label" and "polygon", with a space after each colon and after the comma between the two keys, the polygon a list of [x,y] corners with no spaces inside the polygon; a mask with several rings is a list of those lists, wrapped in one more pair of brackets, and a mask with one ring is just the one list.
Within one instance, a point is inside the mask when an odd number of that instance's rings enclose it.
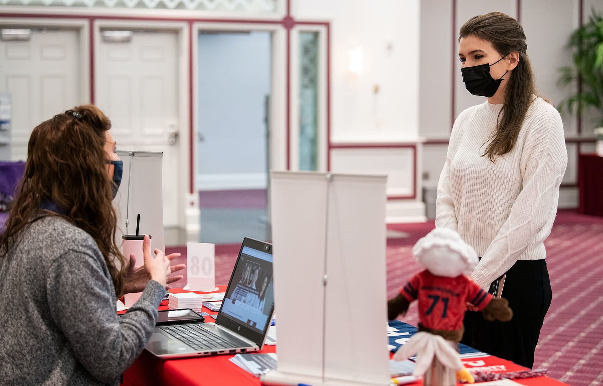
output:
{"label": "leftmost white panelled door, at the photo's left edge", "polygon": [[79,39],[75,30],[51,30],[31,33],[28,41],[0,41],[0,91],[11,96],[12,160],[27,158],[31,130],[40,122],[83,103]]}

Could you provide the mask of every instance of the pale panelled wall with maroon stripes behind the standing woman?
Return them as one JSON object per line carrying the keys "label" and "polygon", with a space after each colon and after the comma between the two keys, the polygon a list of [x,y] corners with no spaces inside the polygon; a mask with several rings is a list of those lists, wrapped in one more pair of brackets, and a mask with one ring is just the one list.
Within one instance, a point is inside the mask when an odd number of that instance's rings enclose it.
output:
{"label": "pale panelled wall with maroon stripes behind the standing woman", "polygon": [[[517,17],[526,33],[528,55],[534,68],[537,88],[541,95],[558,104],[570,91],[557,87],[558,68],[571,64],[571,54],[564,49],[569,34],[578,27],[578,0],[456,0],[455,32],[452,34],[452,4],[449,0],[421,1],[420,26],[420,130],[428,139],[423,151],[423,184],[430,188],[437,185],[446,157],[446,141],[450,136],[453,118],[485,98],[470,95],[464,87],[460,63],[457,59],[458,30],[467,19],[476,14],[502,11]],[[582,15],[587,22],[590,10],[603,10],[603,0],[583,1]],[[546,27],[545,27],[546,24]],[[433,51],[444,52],[443,60],[434,60]],[[454,85],[452,85],[454,71]],[[454,113],[452,105],[454,104]],[[434,113],[437,112],[437,113]],[[562,115],[569,156],[566,176],[560,194],[560,207],[576,207],[578,204],[576,136],[591,136],[593,122],[589,116],[582,119],[582,133],[577,131],[575,116]],[[429,142],[434,142],[429,144]],[[579,145],[581,151],[592,145]]]}

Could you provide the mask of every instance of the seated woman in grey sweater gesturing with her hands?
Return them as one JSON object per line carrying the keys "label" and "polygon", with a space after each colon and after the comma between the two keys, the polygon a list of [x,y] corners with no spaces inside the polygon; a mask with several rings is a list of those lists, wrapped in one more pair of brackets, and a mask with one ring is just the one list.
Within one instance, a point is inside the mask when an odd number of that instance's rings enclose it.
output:
{"label": "seated woman in grey sweater gesturing with her hands", "polygon": [[[7,385],[119,384],[151,337],[178,254],[134,270],[115,242],[121,161],[109,119],[75,107],[31,133],[21,191],[0,236],[0,379]],[[118,167],[116,167],[118,166]],[[161,186],[152,186],[161,189]],[[144,291],[143,291],[144,289]],[[121,318],[116,298],[143,291]]]}

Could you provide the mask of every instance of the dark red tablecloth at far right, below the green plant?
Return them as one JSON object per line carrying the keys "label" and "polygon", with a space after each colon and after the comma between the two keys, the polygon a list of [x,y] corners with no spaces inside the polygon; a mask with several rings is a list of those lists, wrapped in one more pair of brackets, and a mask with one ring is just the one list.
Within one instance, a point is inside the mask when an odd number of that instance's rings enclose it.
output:
{"label": "dark red tablecloth at far right, below the green plant", "polygon": [[597,154],[579,154],[578,187],[578,211],[603,216],[603,157]]}

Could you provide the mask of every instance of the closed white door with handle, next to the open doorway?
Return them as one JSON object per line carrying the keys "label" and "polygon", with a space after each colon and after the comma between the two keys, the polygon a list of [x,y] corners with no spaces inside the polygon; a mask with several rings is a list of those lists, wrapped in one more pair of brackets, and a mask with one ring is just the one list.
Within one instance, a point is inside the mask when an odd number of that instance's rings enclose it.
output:
{"label": "closed white door with handle, next to the open doorway", "polygon": [[[112,121],[118,149],[163,152],[163,225],[179,224],[178,36],[134,31],[129,42],[98,41],[96,104]],[[148,188],[153,189],[153,180]]]}

